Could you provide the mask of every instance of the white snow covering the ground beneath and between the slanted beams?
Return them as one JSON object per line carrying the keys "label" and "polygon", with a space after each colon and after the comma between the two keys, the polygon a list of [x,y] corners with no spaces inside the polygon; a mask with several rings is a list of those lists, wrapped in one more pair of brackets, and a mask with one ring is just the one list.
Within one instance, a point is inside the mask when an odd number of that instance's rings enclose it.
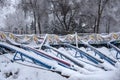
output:
{"label": "white snow covering the ground beneath and between the slanted beams", "polygon": [[[7,40],[12,44],[19,45],[14,40],[11,39],[7,39]],[[25,40],[23,39],[22,42],[26,42]],[[43,67],[40,67],[38,65],[26,61],[11,62],[9,59],[13,59],[14,53],[12,54],[8,53],[8,54],[0,55],[0,80],[120,80],[120,62],[117,59],[115,59],[116,52],[114,50],[109,50],[106,47],[101,47],[96,49],[99,50],[101,53],[105,54],[106,56],[117,61],[115,66],[111,65],[105,60],[100,59],[99,56],[95,56],[94,51],[89,51],[87,50],[87,48],[84,47],[81,47],[79,49],[95,57],[96,59],[103,61],[104,63],[101,63],[100,65],[104,66],[104,68],[106,68],[107,71],[85,63],[85,62],[88,63],[91,62],[87,58],[75,58],[74,55],[76,54],[76,50],[65,49],[63,47],[60,47],[59,49],[55,48],[56,50],[61,52],[61,54],[72,59],[71,61],[68,58],[66,59],[65,56],[63,57],[63,60],[67,61],[70,64],[73,64],[74,67],[78,69],[78,71],[74,71],[58,65],[56,61],[44,57],[42,58],[31,51],[28,52],[27,50],[23,50],[3,42],[1,42],[0,44],[4,44],[5,46],[9,46],[10,48],[16,49],[17,51],[22,52],[28,56],[31,56],[39,61],[42,61],[43,63],[47,63],[50,66],[52,65],[52,67],[53,66],[55,68],[57,67],[56,70],[61,71],[61,74],[58,74],[56,72],[52,72],[48,69],[45,69]],[[29,45],[27,46],[33,48],[33,47],[37,47],[38,45],[33,41],[30,42]],[[57,56],[58,53],[56,53],[55,51],[48,50],[46,51],[46,53],[48,53],[53,57],[59,58],[59,56]],[[84,65],[84,68],[78,67],[78,65],[75,64],[74,61]],[[91,64],[93,63],[91,62]],[[69,75],[69,78],[66,78],[63,75]]]}

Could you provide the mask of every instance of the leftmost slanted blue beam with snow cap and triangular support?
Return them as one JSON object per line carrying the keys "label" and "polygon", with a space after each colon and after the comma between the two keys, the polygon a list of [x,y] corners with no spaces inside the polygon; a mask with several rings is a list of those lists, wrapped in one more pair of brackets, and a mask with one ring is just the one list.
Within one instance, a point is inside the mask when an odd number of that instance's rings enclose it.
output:
{"label": "leftmost slanted blue beam with snow cap and triangular support", "polygon": [[[56,68],[55,66],[53,66],[53,64],[57,65],[56,62],[49,60],[49,59],[46,59],[46,58],[42,58],[34,53],[25,51],[24,49],[18,48],[16,46],[0,42],[0,47],[15,51],[13,61],[16,61],[16,60],[23,60],[24,61],[23,57],[25,57],[25,58],[32,60],[34,63],[38,64],[39,66],[45,67],[47,69],[53,70]],[[19,55],[20,58],[18,58],[17,55]],[[51,62],[51,63],[53,62],[53,63],[51,64],[49,62]]]}

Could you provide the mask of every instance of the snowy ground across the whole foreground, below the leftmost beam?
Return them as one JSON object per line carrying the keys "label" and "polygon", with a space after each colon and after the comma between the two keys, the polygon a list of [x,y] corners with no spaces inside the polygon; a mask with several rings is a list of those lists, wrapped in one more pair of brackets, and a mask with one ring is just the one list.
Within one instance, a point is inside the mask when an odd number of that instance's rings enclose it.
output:
{"label": "snowy ground across the whole foreground, below the leftmost beam", "polygon": [[[12,58],[13,54],[4,54]],[[48,70],[12,63],[4,55],[0,55],[0,80],[120,80],[120,64],[112,71],[98,71],[90,74],[74,74],[65,78],[58,73]],[[24,64],[35,66],[27,62]]]}

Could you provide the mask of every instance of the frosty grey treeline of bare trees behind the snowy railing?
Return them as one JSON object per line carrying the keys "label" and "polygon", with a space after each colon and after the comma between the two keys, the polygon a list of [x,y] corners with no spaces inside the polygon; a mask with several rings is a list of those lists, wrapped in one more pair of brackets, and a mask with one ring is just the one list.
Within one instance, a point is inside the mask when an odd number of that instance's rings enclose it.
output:
{"label": "frosty grey treeline of bare trees behind the snowy railing", "polygon": [[[13,0],[0,0],[1,8]],[[19,34],[120,31],[120,0],[16,0],[2,30]]]}

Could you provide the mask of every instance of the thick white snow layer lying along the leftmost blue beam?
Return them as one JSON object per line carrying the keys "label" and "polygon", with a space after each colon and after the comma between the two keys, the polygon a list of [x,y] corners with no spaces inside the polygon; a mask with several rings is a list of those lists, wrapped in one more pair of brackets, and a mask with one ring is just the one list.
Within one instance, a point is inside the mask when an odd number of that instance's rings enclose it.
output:
{"label": "thick white snow layer lying along the leftmost blue beam", "polygon": [[7,43],[1,43],[1,42],[0,42],[0,45],[4,45],[4,46],[7,46],[7,47],[10,47],[10,48],[12,48],[12,49],[14,49],[14,50],[16,50],[16,51],[19,51],[19,52],[22,52],[23,54],[26,54],[26,55],[28,55],[28,56],[31,56],[31,57],[33,57],[33,58],[35,58],[35,59],[37,59],[37,60],[39,60],[39,61],[41,61],[41,62],[43,62],[43,63],[45,63],[45,64],[48,64],[48,65],[50,65],[50,66],[52,66],[52,67],[55,67],[55,70],[61,72],[63,75],[71,76],[73,73],[74,73],[74,74],[79,74],[78,72],[75,72],[75,71],[73,71],[73,70],[70,70],[70,69],[67,69],[67,68],[65,68],[65,67],[62,67],[62,66],[58,65],[58,63],[57,63],[56,61],[49,60],[49,59],[44,58],[44,57],[40,57],[40,56],[38,56],[37,54],[35,54],[35,53],[33,53],[33,52],[25,51],[25,50],[20,49],[20,48],[18,48],[18,47],[9,45],[9,44],[7,44]]}

